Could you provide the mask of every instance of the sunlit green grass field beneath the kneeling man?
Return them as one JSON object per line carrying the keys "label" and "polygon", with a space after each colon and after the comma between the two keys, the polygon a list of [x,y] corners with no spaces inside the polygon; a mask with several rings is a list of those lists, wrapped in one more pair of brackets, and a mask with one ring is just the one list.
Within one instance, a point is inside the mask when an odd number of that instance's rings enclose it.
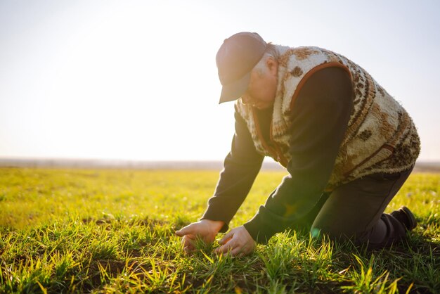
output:
{"label": "sunlit green grass field beneath the kneeling man", "polygon": [[[283,177],[261,172],[231,226]],[[205,210],[218,172],[0,169],[0,293],[440,293],[440,174],[412,174],[408,240],[368,251],[285,232],[247,257],[174,231]],[[214,244],[215,247],[218,244]]]}

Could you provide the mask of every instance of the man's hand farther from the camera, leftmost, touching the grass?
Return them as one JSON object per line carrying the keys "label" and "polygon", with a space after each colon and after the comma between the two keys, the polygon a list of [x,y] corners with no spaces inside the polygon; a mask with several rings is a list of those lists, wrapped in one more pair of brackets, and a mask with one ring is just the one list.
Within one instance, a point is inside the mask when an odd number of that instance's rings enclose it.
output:
{"label": "man's hand farther from the camera, leftmost, touching the grass", "polygon": [[222,221],[212,221],[210,219],[202,219],[200,222],[193,222],[184,228],[176,231],[176,235],[182,238],[183,250],[186,253],[195,250],[195,239],[201,238],[205,243],[212,243],[216,234],[224,226]]}

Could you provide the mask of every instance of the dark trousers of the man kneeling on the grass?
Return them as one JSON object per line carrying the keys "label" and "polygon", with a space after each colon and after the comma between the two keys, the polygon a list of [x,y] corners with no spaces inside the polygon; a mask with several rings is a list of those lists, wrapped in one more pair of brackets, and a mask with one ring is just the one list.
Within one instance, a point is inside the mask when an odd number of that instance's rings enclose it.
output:
{"label": "dark trousers of the man kneeling on the grass", "polygon": [[406,229],[385,208],[411,171],[372,174],[324,193],[313,210],[294,228],[311,226],[312,236],[350,238],[369,248],[381,248],[406,235]]}

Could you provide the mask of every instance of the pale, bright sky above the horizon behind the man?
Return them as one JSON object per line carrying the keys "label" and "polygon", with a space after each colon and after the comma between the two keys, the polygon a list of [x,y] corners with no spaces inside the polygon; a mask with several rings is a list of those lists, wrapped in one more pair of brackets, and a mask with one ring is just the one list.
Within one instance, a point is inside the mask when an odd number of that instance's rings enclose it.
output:
{"label": "pale, bright sky above the horizon behind the man", "polygon": [[440,160],[439,1],[0,0],[0,158],[222,160],[235,32],[320,46],[400,101]]}

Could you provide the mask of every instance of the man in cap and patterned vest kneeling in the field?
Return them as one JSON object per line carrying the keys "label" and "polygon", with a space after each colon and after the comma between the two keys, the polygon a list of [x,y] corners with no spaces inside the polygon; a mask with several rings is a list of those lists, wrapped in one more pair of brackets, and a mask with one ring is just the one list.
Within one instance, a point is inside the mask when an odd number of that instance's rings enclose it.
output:
{"label": "man in cap and patterned vest kneeling in the field", "polygon": [[264,156],[289,175],[249,222],[219,241],[218,253],[245,255],[287,228],[380,248],[415,228],[401,207],[384,210],[408,178],[420,140],[406,110],[356,63],[318,47],[268,44],[259,34],[226,39],[216,64],[220,103],[235,101],[235,134],[214,196],[200,222],[180,231],[186,251],[197,236],[228,230]]}

